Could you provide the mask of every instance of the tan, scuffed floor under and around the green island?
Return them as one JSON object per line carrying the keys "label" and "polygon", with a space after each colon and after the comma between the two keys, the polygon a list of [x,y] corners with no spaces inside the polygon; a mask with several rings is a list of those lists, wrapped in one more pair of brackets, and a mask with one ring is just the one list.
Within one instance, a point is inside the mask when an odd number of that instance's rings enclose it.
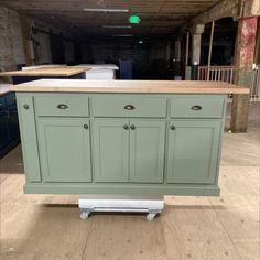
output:
{"label": "tan, scuffed floor under and around the green island", "polygon": [[77,196],[24,195],[15,148],[0,161],[0,259],[259,260],[259,129],[260,104],[253,104],[248,133],[224,134],[221,195],[165,196],[152,223],[139,214],[84,221]]}

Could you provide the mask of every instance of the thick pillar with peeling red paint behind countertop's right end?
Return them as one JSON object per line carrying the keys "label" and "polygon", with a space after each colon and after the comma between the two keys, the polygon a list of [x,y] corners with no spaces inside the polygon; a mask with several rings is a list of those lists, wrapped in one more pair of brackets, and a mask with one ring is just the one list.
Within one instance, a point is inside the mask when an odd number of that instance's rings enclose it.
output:
{"label": "thick pillar with peeling red paint behind countertop's right end", "polygon": [[[242,18],[238,21],[236,65],[237,83],[252,86],[252,64],[256,48],[258,18]],[[250,95],[234,95],[230,128],[232,132],[246,132]]]}

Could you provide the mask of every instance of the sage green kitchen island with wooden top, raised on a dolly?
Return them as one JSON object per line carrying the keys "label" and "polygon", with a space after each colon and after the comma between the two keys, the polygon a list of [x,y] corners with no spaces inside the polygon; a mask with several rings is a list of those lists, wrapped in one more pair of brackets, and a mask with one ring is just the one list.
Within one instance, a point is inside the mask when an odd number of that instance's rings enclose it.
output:
{"label": "sage green kitchen island with wooden top, raised on a dolly", "polygon": [[215,82],[41,79],[17,91],[25,193],[219,195]]}

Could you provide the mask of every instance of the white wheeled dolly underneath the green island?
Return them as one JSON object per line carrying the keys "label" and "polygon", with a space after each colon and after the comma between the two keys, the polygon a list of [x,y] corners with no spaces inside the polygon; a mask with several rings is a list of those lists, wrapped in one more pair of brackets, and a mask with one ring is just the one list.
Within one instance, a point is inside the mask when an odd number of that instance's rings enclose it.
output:
{"label": "white wheeled dolly underneath the green island", "polygon": [[163,197],[136,197],[118,195],[82,195],[78,198],[80,218],[86,220],[90,213],[119,212],[119,213],[148,213],[147,219],[153,220],[163,210]]}

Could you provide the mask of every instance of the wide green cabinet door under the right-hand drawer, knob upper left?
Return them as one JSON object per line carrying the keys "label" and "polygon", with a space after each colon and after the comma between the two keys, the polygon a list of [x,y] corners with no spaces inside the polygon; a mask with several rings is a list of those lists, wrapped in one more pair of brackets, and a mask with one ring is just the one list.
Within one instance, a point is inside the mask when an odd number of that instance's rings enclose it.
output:
{"label": "wide green cabinet door under the right-hand drawer, knob upper left", "polygon": [[175,120],[169,126],[167,183],[215,183],[220,121]]}

